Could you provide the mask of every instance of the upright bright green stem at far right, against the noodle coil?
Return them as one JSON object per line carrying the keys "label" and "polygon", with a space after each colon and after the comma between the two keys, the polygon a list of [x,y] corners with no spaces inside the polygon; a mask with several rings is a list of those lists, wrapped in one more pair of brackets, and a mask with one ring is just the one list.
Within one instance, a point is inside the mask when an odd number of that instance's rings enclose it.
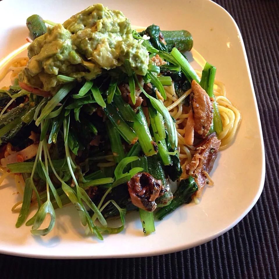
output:
{"label": "upright bright green stem at far right, against the noodle coil", "polygon": [[210,129],[210,133],[213,133],[216,131],[216,133],[219,135],[223,131],[223,125],[222,125],[222,120],[221,116],[217,107],[216,99],[213,93],[213,85],[214,85],[214,79],[215,79],[215,73],[216,73],[216,68],[206,62],[202,76],[201,76],[201,82],[200,85],[201,87],[206,91],[208,96],[210,98],[213,98],[213,123],[212,127]]}

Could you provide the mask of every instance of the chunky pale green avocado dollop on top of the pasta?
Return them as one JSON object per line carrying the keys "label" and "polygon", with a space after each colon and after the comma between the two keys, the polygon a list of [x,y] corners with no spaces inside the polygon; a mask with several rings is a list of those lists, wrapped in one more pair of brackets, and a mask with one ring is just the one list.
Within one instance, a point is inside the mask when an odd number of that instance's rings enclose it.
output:
{"label": "chunky pale green avocado dollop on top of the pasta", "polygon": [[103,69],[129,60],[136,74],[145,75],[149,53],[133,39],[130,20],[118,10],[95,4],[63,24],[47,28],[28,47],[29,62],[19,80],[44,91],[56,92],[66,75],[81,81],[94,79]]}

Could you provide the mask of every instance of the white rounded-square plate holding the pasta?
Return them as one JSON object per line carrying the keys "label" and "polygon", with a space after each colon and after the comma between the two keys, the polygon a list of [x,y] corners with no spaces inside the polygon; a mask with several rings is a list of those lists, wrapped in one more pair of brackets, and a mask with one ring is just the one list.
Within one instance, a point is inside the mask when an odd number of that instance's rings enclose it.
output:
{"label": "white rounded-square plate holding the pasta", "polygon": [[[3,0],[0,2],[0,58],[26,43],[26,18],[39,14],[53,22],[92,5],[82,0]],[[194,47],[217,68],[227,96],[242,113],[234,143],[219,153],[212,178],[201,203],[184,205],[163,221],[156,232],[144,237],[138,212],[127,214],[126,228],[104,241],[85,237],[72,206],[56,210],[53,231],[34,237],[30,227],[15,228],[17,201],[14,183],[0,187],[0,253],[42,258],[138,257],[170,253],[205,243],[237,224],[251,210],[264,185],[264,146],[255,93],[239,29],[232,17],[209,0],[121,1],[105,0],[104,6],[123,11],[137,26],[157,24],[162,30],[187,29]],[[7,85],[9,78],[0,86]]]}

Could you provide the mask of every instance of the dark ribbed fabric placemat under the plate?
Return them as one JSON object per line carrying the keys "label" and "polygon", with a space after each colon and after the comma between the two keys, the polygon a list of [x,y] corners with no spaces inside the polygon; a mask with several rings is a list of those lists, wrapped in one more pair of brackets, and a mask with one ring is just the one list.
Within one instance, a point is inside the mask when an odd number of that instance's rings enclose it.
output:
{"label": "dark ribbed fabric placemat under the plate", "polygon": [[266,180],[251,212],[217,239],[169,255],[103,260],[0,255],[0,278],[279,278],[279,1],[216,2],[242,33],[262,121]]}

